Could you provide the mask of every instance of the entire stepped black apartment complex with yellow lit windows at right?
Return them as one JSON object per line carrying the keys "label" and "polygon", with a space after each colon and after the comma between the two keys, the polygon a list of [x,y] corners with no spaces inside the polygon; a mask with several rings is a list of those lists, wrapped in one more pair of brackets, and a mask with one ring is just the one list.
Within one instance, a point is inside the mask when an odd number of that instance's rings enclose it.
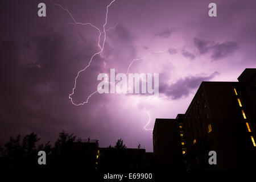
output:
{"label": "entire stepped black apartment complex with yellow lit windows at right", "polygon": [[[153,143],[159,166],[174,168],[177,161],[169,159],[175,158],[180,164],[187,160],[192,171],[256,169],[256,69],[245,69],[238,82],[203,81],[183,119],[179,115],[155,121]],[[182,138],[177,138],[179,134]],[[209,151],[216,151],[216,165],[209,164]],[[177,158],[176,152],[184,158]],[[171,156],[164,160],[163,154]]]}

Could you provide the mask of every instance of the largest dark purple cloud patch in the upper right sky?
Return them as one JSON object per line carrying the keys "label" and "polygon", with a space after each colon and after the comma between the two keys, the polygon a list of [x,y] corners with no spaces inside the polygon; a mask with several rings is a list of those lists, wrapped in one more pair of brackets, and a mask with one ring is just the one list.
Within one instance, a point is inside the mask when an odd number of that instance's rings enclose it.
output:
{"label": "largest dark purple cloud patch in the upper right sky", "polygon": [[211,52],[213,60],[222,59],[233,53],[238,48],[237,42],[214,43],[209,40],[194,38],[193,43],[200,54]]}

